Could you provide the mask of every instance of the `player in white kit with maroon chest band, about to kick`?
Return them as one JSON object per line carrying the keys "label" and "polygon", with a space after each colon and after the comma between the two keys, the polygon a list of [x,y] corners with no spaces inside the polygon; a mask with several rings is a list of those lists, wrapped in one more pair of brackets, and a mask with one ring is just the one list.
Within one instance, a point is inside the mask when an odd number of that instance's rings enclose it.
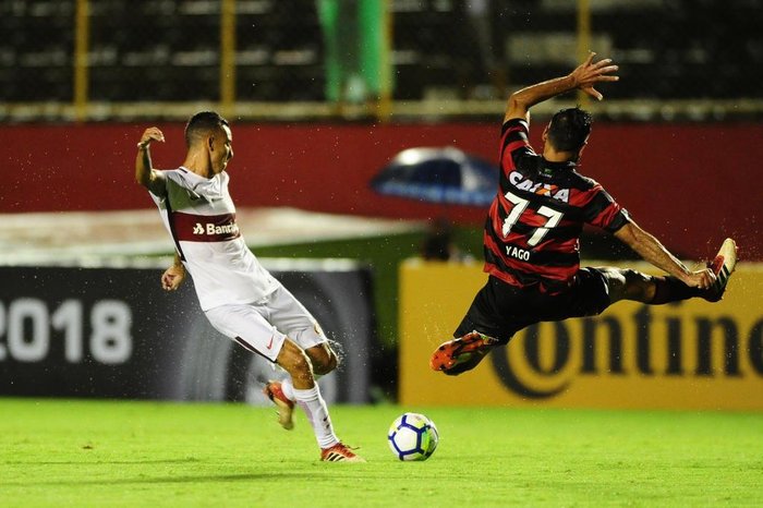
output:
{"label": "player in white kit with maroon chest band, about to kick", "polygon": [[336,368],[336,353],[310,312],[252,254],[235,223],[226,172],[233,157],[230,125],[214,111],[194,114],[178,169],[152,167],[150,144],[164,141],[159,129],[146,129],[135,159],[135,180],[148,189],[175,245],[162,287],[177,289],[190,273],[213,326],[289,373],[290,378],[270,382],[264,390],[283,428],[293,427],[296,404],[313,426],[320,460],[363,462],[337,438],[315,382]]}

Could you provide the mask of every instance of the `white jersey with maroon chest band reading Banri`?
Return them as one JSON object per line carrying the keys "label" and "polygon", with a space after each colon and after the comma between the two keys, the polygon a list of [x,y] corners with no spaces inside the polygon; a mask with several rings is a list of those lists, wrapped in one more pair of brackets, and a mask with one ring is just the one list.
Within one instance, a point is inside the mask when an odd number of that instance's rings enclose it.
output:
{"label": "white jersey with maroon chest band reading Banri", "polygon": [[149,194],[193,277],[202,310],[252,303],[272,293],[279,282],[249,250],[235,223],[228,173],[207,179],[183,167],[161,173],[166,194]]}

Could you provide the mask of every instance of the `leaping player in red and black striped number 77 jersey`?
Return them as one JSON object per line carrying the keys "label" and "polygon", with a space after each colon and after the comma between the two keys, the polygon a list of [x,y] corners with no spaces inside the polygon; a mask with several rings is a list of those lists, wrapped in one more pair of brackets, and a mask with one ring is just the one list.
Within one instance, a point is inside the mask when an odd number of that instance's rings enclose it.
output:
{"label": "leaping player in red and black striped number 77 jersey", "polygon": [[[615,82],[617,65],[590,53],[570,74],[522,88],[509,98],[500,137],[500,181],[485,221],[487,283],[477,292],[453,339],[429,365],[458,375],[474,368],[496,346],[538,322],[592,316],[620,300],[663,304],[703,298],[717,302],[734,271],[737,247],[726,239],[707,268],[691,270],[596,181],[578,172],[592,117],[580,108],[558,111],[543,132],[543,152],[528,141],[530,108],[574,89],[601,100],[594,88]],[[601,228],[667,275],[580,267],[584,225]]]}

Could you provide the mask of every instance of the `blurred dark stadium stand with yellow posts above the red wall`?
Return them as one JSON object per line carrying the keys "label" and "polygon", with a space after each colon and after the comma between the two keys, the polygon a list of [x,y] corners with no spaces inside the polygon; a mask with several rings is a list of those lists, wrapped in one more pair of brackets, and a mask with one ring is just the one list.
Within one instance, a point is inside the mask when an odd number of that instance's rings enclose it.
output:
{"label": "blurred dark stadium stand with yellow posts above the red wall", "polygon": [[620,64],[600,118],[758,120],[761,26],[763,0],[0,0],[0,120],[480,118],[589,49]]}

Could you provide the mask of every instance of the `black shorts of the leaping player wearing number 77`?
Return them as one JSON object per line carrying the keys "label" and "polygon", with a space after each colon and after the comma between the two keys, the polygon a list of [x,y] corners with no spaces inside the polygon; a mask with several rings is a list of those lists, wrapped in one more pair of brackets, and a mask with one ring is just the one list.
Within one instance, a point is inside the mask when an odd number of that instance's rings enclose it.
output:
{"label": "black shorts of the leaping player wearing number 77", "polygon": [[596,268],[578,270],[572,286],[556,294],[543,293],[535,286],[519,288],[491,276],[474,297],[453,337],[476,330],[507,343],[526,326],[595,316],[609,304],[606,275]]}

